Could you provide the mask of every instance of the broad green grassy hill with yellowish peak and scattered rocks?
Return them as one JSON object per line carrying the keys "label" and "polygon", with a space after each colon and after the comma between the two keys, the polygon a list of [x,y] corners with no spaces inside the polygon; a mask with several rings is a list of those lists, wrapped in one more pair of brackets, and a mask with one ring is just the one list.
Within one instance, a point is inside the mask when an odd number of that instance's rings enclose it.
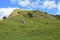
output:
{"label": "broad green grassy hill with yellowish peak and scattered rocks", "polygon": [[39,10],[15,9],[0,21],[0,40],[60,40],[60,20]]}

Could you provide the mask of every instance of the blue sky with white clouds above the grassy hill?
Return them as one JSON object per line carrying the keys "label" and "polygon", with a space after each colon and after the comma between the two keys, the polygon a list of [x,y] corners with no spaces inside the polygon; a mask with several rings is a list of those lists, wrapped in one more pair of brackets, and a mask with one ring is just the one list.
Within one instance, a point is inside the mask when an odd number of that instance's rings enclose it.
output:
{"label": "blue sky with white clouds above the grassy hill", "polygon": [[10,15],[16,8],[56,15],[60,14],[60,0],[0,0],[0,18]]}

